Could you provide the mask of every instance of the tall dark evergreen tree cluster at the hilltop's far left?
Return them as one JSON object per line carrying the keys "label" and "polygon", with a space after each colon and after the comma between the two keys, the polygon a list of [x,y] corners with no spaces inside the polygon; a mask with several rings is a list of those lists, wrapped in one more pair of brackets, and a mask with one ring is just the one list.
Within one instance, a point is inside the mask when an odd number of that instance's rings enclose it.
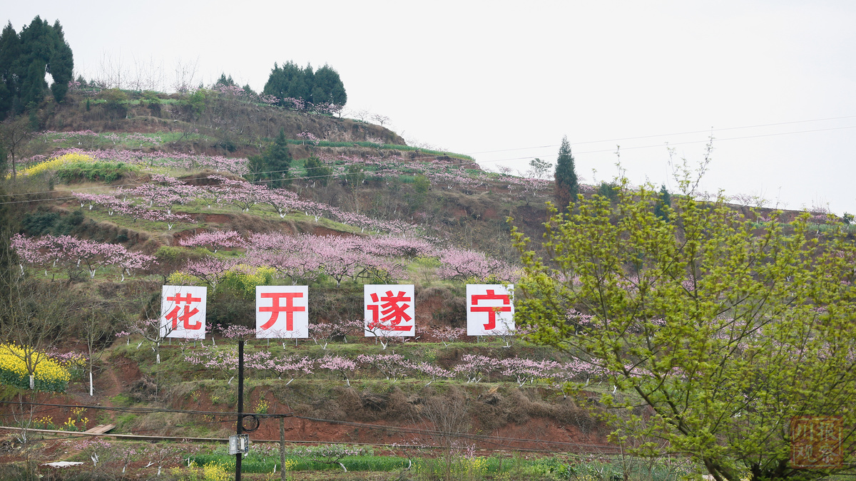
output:
{"label": "tall dark evergreen tree cluster at the hilltop's far left", "polygon": [[59,21],[51,26],[36,16],[20,34],[9,22],[0,33],[0,118],[39,104],[48,92],[45,74],[53,77],[50,91],[62,102],[73,70],[74,56]]}

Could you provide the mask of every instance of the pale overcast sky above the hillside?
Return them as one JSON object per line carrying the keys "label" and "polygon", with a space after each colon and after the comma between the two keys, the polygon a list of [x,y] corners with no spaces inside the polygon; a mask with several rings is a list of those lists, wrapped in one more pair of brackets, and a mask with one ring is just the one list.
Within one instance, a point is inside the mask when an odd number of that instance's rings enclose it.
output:
{"label": "pale overcast sky above the hillside", "polygon": [[588,182],[616,174],[621,145],[632,181],[674,187],[667,143],[694,164],[712,134],[706,189],[856,213],[852,1],[32,0],[3,14],[19,32],[59,20],[86,78],[154,66],[169,86],[181,62],[259,91],[274,62],[328,63],[348,109],[485,169],[555,162],[567,135]]}

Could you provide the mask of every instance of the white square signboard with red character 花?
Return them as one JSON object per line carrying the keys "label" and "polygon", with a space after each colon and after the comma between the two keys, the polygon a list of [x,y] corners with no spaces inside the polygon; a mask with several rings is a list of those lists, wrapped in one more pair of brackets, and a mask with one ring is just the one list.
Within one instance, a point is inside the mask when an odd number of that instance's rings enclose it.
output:
{"label": "white square signboard with red character \u82b1", "polygon": [[160,330],[164,337],[205,339],[205,300],[208,288],[163,286]]}

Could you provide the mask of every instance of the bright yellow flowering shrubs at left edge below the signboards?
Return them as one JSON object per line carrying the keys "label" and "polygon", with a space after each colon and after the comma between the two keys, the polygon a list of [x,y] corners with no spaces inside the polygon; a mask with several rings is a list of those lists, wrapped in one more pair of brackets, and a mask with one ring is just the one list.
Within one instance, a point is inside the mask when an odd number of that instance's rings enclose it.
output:
{"label": "bright yellow flowering shrubs at left edge below the signboards", "polygon": [[[44,353],[35,371],[35,388],[40,391],[64,392],[68,389],[71,375],[68,369],[50,359]],[[24,363],[25,353],[13,344],[0,344],[0,384],[29,389],[30,376]]]}

